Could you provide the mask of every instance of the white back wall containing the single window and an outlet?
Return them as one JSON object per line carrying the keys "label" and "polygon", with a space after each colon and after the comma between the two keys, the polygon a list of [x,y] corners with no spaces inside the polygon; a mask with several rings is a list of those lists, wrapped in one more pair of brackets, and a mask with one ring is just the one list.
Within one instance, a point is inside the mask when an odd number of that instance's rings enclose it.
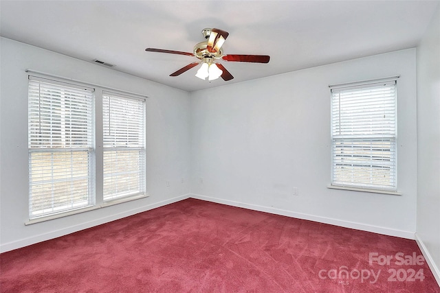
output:
{"label": "white back wall containing the single window and an outlet", "polygon": [[[415,49],[406,49],[191,93],[192,194],[414,239],[415,54]],[[329,84],[393,75],[401,75],[397,95],[402,195],[327,189]],[[293,187],[298,187],[299,196],[292,195]]]}

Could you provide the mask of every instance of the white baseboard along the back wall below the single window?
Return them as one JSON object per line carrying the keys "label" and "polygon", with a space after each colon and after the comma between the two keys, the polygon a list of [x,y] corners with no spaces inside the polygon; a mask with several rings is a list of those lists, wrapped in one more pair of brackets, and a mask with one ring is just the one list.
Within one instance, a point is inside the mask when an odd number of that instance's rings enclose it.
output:
{"label": "white baseboard along the back wall below the single window", "polygon": [[212,198],[210,196],[202,196],[200,194],[191,194],[190,195],[191,198],[197,198],[199,200],[206,200],[209,202],[217,202],[220,204],[228,204],[230,206],[233,207],[242,207],[245,209],[252,209],[254,211],[264,211],[266,213],[274,213],[276,215],[285,215],[287,217],[292,217],[292,218],[298,218],[298,219],[302,219],[302,220],[310,220],[310,221],[314,221],[314,222],[320,222],[320,223],[324,223],[324,224],[331,224],[331,225],[335,225],[335,226],[341,226],[344,228],[352,228],[352,229],[356,229],[356,230],[361,230],[361,231],[367,231],[367,232],[373,232],[373,233],[378,233],[378,234],[383,234],[383,235],[389,235],[389,236],[395,236],[395,237],[401,237],[401,238],[406,238],[406,239],[415,239],[415,233],[414,232],[410,232],[410,231],[401,231],[401,230],[396,230],[396,229],[391,229],[391,228],[385,228],[385,227],[380,227],[380,226],[373,226],[373,225],[368,225],[368,224],[361,224],[361,223],[356,223],[356,222],[349,222],[349,221],[343,221],[343,220],[338,220],[338,219],[333,219],[333,218],[325,218],[325,217],[320,217],[318,215],[309,215],[306,213],[296,213],[293,211],[287,211],[287,210],[283,210],[283,209],[276,209],[273,207],[263,207],[260,205],[256,205],[256,204],[248,204],[248,203],[244,203],[244,202],[236,202],[233,200],[223,200],[221,198]]}

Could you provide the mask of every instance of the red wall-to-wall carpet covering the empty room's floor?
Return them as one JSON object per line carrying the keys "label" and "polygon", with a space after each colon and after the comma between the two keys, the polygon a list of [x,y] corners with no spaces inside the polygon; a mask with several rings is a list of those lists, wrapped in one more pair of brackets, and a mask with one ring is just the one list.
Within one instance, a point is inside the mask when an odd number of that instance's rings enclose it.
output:
{"label": "red wall-to-wall carpet covering the empty room's floor", "polygon": [[1,292],[440,292],[413,240],[195,199],[0,260]]}

